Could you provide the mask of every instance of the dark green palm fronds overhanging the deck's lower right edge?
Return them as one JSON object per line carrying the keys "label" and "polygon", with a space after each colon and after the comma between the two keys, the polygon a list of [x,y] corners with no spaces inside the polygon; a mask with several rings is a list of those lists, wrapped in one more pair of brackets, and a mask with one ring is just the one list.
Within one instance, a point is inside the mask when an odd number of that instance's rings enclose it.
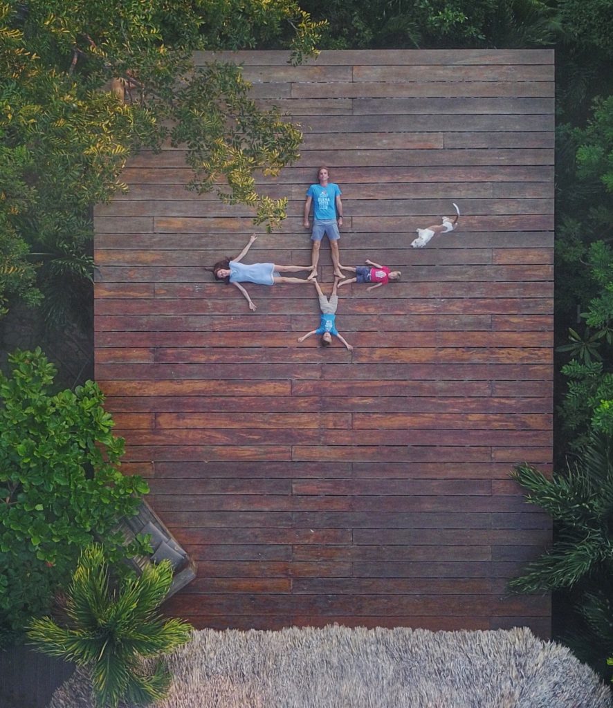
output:
{"label": "dark green palm fronds overhanging the deck's lower right edge", "polygon": [[558,590],[577,612],[563,639],[604,675],[604,657],[613,654],[613,438],[593,433],[578,459],[551,479],[529,465],[512,476],[527,502],[551,515],[556,538],[510,588]]}

